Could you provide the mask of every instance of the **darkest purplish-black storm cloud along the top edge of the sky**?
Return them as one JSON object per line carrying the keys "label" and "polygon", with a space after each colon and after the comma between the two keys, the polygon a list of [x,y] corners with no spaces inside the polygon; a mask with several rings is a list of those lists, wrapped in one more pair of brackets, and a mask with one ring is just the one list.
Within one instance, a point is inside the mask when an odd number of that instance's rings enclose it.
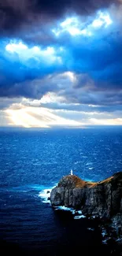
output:
{"label": "darkest purplish-black storm cloud along the top edge of the sky", "polygon": [[50,23],[65,15],[79,13],[89,15],[97,9],[110,6],[118,1],[113,0],[1,0],[1,36],[19,34],[23,25],[31,27],[40,20],[40,30],[46,22]]}

